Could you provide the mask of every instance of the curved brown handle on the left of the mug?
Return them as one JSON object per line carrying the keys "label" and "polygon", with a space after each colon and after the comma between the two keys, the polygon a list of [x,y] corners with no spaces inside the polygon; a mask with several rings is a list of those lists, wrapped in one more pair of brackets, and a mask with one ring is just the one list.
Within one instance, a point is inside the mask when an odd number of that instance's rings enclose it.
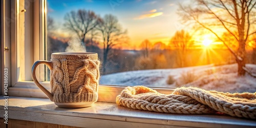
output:
{"label": "curved brown handle on the left of the mug", "polygon": [[46,60],[37,60],[34,65],[32,66],[32,71],[31,71],[31,75],[32,75],[32,79],[34,80],[36,86],[42,91],[44,92],[48,97],[49,99],[52,101],[53,99],[53,95],[46,89],[44,88],[36,79],[36,76],[35,76],[35,69],[38,65],[40,64],[45,64],[48,66],[48,68],[50,70],[52,70],[52,61],[46,61]]}

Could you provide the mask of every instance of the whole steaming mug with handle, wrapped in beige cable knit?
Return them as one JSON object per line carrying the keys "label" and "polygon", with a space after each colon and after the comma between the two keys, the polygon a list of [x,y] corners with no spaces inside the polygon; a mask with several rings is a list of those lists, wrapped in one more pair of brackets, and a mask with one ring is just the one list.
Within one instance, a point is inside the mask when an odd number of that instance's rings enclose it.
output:
{"label": "whole steaming mug with handle, wrapped in beige cable knit", "polygon": [[[84,108],[98,100],[99,63],[97,53],[52,53],[51,61],[36,61],[31,74],[36,86],[60,108]],[[36,79],[40,64],[50,69],[51,92]]]}

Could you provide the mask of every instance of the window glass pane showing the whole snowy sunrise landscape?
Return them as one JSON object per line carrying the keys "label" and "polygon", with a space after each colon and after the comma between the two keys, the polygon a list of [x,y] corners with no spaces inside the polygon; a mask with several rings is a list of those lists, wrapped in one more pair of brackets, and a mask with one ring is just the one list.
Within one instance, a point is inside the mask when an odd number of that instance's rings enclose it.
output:
{"label": "window glass pane showing the whole snowy sunrise landscape", "polygon": [[47,55],[98,53],[101,84],[255,92],[256,9],[238,25],[231,4],[48,0]]}

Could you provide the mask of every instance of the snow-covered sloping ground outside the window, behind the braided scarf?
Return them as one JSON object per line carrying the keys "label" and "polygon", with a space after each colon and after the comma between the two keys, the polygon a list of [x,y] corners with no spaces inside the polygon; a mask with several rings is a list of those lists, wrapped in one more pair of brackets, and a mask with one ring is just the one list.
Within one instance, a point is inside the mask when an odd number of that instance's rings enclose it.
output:
{"label": "snow-covered sloping ground outside the window, behind the braided scarf", "polygon": [[[248,64],[246,67],[256,72],[256,65]],[[195,80],[184,83],[190,73]],[[172,75],[174,83],[167,84],[168,76]],[[191,76],[190,76],[191,77]],[[103,75],[101,84],[115,84],[122,86],[143,85],[147,87],[177,88],[180,86],[193,86],[206,90],[222,92],[256,92],[256,78],[249,75],[237,76],[237,64],[214,67],[213,65],[177,68],[140,70]]]}

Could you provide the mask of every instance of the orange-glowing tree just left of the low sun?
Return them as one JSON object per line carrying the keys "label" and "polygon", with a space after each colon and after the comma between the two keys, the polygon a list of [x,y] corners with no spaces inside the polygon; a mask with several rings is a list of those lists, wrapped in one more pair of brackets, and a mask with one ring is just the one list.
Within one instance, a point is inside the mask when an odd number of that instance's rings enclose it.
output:
{"label": "orange-glowing tree just left of the low sun", "polygon": [[170,39],[169,46],[174,47],[177,50],[180,67],[185,67],[187,49],[193,45],[194,40],[192,39],[192,35],[184,30],[177,31]]}

